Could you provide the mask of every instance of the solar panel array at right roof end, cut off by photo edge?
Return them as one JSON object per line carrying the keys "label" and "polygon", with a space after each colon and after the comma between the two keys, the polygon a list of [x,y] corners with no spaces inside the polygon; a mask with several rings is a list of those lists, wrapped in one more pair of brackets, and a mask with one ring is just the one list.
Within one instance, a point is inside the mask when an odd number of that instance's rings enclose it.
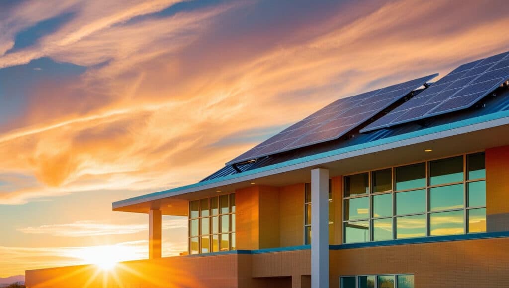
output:
{"label": "solar panel array at right roof end, cut off by photo edge", "polygon": [[509,51],[463,64],[360,132],[470,108],[508,78]]}

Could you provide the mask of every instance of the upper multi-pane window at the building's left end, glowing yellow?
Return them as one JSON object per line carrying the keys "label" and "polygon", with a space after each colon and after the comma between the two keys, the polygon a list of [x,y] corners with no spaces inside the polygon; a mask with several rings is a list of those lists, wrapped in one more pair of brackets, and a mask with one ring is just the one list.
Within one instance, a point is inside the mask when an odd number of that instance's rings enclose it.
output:
{"label": "upper multi-pane window at the building's left end, glowing yellow", "polygon": [[190,201],[189,254],[235,249],[235,194]]}

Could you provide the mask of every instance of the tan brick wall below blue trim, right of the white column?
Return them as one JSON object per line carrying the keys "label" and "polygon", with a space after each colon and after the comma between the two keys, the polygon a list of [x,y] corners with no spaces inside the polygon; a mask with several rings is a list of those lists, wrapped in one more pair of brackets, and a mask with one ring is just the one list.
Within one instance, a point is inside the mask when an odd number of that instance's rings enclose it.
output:
{"label": "tan brick wall below blue trim, right of the white column", "polygon": [[413,273],[415,287],[509,287],[509,238],[330,251],[330,287],[340,275]]}

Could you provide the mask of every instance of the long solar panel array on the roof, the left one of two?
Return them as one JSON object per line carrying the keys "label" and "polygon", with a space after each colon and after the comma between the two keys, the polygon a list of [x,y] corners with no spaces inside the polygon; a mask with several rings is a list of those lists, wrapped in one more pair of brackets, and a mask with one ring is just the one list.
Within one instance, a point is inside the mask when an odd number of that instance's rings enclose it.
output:
{"label": "long solar panel array on the roof, the left one of two", "polygon": [[241,154],[227,165],[340,138],[437,75],[339,99]]}

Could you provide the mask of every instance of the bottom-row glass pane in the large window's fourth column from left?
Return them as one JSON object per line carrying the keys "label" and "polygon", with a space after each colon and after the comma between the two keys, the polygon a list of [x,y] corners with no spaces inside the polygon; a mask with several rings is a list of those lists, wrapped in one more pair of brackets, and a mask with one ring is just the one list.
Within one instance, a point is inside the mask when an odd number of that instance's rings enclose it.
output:
{"label": "bottom-row glass pane in the large window's fourth column from left", "polygon": [[451,211],[433,213],[430,215],[430,235],[453,235],[465,233],[465,212]]}

